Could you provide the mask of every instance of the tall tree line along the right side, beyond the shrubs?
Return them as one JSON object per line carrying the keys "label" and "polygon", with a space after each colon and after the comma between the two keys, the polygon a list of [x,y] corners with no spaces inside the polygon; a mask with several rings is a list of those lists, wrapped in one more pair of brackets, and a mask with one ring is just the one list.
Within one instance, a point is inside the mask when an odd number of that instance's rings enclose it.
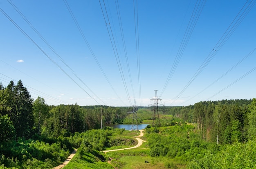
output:
{"label": "tall tree line along the right side, beyond the shrubs", "polygon": [[166,107],[166,113],[195,124],[204,140],[220,144],[243,142],[256,135],[256,99],[201,101]]}

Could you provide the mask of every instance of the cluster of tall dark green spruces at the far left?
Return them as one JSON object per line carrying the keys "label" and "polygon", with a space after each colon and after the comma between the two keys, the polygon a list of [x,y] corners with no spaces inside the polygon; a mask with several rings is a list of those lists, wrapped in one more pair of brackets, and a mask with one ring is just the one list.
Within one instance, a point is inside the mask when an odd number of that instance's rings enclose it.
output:
{"label": "cluster of tall dark green spruces at the far left", "polygon": [[18,137],[31,138],[34,134],[32,99],[21,80],[17,85],[11,81],[6,89],[0,90],[0,115],[8,115]]}

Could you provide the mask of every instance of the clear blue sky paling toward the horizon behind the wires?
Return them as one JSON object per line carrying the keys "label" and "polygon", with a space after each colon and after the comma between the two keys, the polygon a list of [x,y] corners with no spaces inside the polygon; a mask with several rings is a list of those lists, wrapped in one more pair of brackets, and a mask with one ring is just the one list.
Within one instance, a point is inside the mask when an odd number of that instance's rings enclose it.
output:
{"label": "clear blue sky paling toward the horizon behind the wires", "polygon": [[200,2],[1,0],[0,81],[48,105],[255,98],[255,1]]}

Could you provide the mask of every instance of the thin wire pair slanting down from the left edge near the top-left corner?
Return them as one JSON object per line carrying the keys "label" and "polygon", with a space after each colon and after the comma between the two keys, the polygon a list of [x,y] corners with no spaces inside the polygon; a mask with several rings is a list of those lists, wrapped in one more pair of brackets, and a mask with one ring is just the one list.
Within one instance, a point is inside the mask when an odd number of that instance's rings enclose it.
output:
{"label": "thin wire pair slanting down from the left edge near the top-left corner", "polygon": [[77,86],[79,86],[85,93],[88,94],[88,96],[90,96],[90,98],[92,98],[95,102],[97,102],[99,105],[101,105],[97,100],[95,100],[95,98],[93,98],[87,91],[85,91],[85,89],[83,89],[65,70],[63,70],[33,39],[31,39],[27,33],[25,33],[25,31],[23,31],[18,24],[16,24],[16,22],[14,22],[1,8],[0,8],[1,13],[4,14],[4,16],[9,19],[11,21],[12,24],[14,24],[14,26],[16,26],[34,45],[36,45],[36,47],[38,49],[40,49],[40,51],[42,51],[45,56],[47,56],[47,58],[49,58],[59,69],[61,69],[61,71],[63,73],[65,73],[66,76],[68,76]]}

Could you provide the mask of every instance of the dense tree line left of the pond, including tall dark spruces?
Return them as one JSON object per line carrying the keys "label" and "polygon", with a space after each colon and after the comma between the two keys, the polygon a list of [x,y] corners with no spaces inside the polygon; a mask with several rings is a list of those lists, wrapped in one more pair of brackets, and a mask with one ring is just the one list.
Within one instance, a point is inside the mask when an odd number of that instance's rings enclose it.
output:
{"label": "dense tree line left of the pond, including tall dark spruces", "polygon": [[70,136],[76,132],[100,129],[102,123],[119,123],[129,107],[47,105],[44,98],[31,98],[19,80],[7,87],[0,83],[0,141]]}

